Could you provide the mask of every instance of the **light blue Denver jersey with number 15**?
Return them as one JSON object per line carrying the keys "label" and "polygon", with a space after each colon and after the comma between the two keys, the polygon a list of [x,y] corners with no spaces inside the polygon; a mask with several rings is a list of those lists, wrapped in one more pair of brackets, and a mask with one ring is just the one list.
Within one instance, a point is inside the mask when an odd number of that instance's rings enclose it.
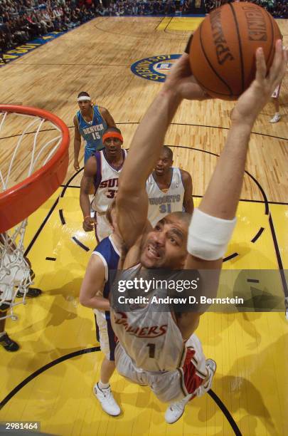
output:
{"label": "light blue Denver jersey with number 15", "polygon": [[76,116],[80,135],[85,140],[85,152],[89,150],[91,155],[92,152],[101,150],[103,148],[102,135],[107,129],[107,123],[100,114],[99,107],[93,106],[93,119],[90,123],[84,120],[80,110]]}

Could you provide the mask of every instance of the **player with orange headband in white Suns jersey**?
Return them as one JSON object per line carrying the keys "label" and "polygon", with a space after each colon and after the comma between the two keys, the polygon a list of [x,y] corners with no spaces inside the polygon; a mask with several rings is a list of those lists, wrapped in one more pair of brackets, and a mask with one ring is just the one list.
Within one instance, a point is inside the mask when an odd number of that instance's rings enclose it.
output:
{"label": "player with orange headband in white Suns jersey", "polygon": [[[94,153],[87,160],[80,185],[80,206],[83,213],[83,229],[91,232],[95,229],[97,242],[109,236],[112,228],[107,221],[106,211],[112,203],[118,190],[118,179],[125,157],[126,150],[122,149],[123,137],[118,128],[108,128],[103,135],[104,150]],[[90,217],[90,198],[92,186],[95,188],[95,197],[92,209],[95,218]]]}

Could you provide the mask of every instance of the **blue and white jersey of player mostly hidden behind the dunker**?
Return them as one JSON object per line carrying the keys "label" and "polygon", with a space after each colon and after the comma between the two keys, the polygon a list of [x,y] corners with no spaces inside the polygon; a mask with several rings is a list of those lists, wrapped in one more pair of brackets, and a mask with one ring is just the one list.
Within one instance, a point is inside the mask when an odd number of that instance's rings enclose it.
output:
{"label": "blue and white jersey of player mostly hidden behind the dunker", "polygon": [[[110,286],[112,284],[112,274],[115,270],[117,270],[118,261],[119,261],[119,251],[112,241],[111,235],[105,239],[102,239],[100,244],[97,245],[93,254],[100,256],[102,262],[105,266],[105,286],[103,289],[103,296],[105,299],[109,297]],[[110,312],[106,313],[110,318]]]}

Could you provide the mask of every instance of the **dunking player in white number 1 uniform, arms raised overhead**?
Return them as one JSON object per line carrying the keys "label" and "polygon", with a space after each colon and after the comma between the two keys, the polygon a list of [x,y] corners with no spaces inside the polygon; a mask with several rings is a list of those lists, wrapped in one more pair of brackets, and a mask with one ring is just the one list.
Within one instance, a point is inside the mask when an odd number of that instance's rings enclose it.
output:
{"label": "dunking player in white number 1 uniform, arms raised overhead", "polygon": [[[235,105],[225,147],[199,209],[194,210],[192,219],[184,212],[174,212],[152,228],[147,222],[146,179],[156,165],[166,130],[181,100],[206,98],[191,76],[186,53],[171,68],[161,92],[137,128],[119,178],[117,221],[128,250],[123,274],[181,268],[213,269],[220,274],[235,227],[252,126],[282,80],[287,65],[282,42],[276,43],[268,75],[261,48],[256,52],[256,64],[255,80]],[[205,295],[207,283],[203,274],[201,281]],[[210,286],[216,289],[218,284]],[[117,299],[116,291],[113,287],[113,300]],[[150,297],[158,291],[144,294],[149,303],[130,311],[119,312],[112,303],[112,327],[119,341],[115,359],[120,374],[134,383],[149,385],[159,400],[170,403],[166,421],[172,423],[182,415],[188,400],[210,388],[215,362],[205,359],[194,334],[201,314],[188,312],[178,316],[174,311],[154,311]]]}

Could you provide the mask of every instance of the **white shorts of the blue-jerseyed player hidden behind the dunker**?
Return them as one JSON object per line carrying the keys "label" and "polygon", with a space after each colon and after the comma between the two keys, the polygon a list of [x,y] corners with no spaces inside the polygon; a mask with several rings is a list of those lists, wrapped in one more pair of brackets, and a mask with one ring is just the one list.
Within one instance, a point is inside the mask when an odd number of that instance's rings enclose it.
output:
{"label": "white shorts of the blue-jerseyed player hidden behind the dunker", "polygon": [[106,316],[105,311],[93,309],[96,322],[96,338],[100,342],[102,353],[105,354],[107,360],[114,361],[114,351],[116,347],[115,335],[110,322],[109,316]]}

